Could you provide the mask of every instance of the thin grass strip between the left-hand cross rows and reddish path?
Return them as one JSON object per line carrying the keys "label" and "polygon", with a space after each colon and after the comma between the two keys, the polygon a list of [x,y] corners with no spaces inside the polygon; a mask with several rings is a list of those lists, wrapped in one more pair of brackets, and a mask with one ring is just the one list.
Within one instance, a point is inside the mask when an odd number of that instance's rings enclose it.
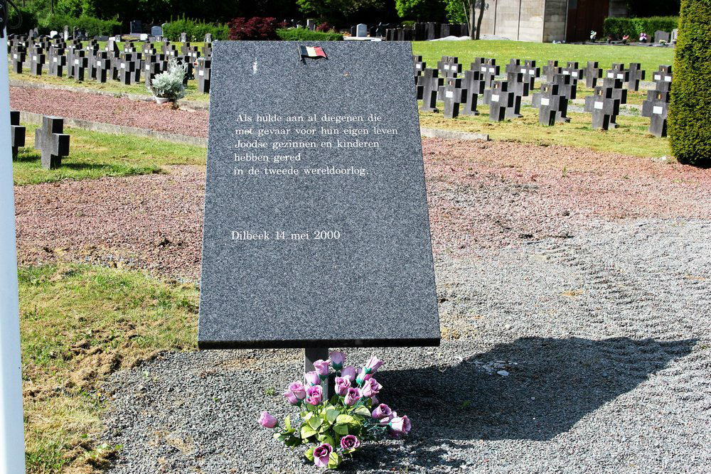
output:
{"label": "thin grass strip between the left-hand cross rows and reddish path", "polygon": [[[77,81],[73,77],[50,76],[46,73],[46,71],[45,74],[41,76],[36,76],[30,74],[28,70],[26,70],[22,74],[17,74],[16,72],[10,70],[9,76],[10,79],[21,80],[23,82],[35,82],[38,84],[46,84],[53,87],[73,87],[82,90],[87,90],[87,92],[96,90],[102,92],[111,92],[117,95],[141,95],[146,97],[146,99],[153,97],[151,95],[151,92],[146,89],[144,82],[141,82],[140,84],[123,85],[121,82],[114,80],[107,80],[107,82],[103,83],[96,82],[95,80]],[[200,92],[198,92],[198,81],[191,79],[188,80],[188,85],[186,85],[186,97],[184,97],[184,99],[193,100],[196,102],[209,102],[210,95],[201,94]]]}

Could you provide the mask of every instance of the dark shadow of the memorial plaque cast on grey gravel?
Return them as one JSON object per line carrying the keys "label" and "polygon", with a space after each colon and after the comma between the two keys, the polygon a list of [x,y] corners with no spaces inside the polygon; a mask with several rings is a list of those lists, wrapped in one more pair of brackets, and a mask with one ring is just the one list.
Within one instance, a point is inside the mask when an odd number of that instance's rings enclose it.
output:
{"label": "dark shadow of the memorial plaque cast on grey gravel", "polygon": [[[378,373],[384,399],[413,419],[413,455],[481,439],[550,440],[583,416],[634,389],[696,340],[521,338],[455,367]],[[508,377],[481,365],[506,361]],[[515,362],[516,365],[513,365]]]}

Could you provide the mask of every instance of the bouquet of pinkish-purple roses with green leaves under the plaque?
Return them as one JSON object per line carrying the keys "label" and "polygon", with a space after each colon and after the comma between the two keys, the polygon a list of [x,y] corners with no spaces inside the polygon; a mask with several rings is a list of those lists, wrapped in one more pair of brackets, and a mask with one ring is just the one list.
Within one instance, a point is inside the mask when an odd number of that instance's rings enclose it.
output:
{"label": "bouquet of pinkish-purple roses with green leaves under the plaque", "polygon": [[[380,403],[375,395],[383,386],[373,375],[383,361],[370,357],[360,370],[344,366],[346,355],[331,352],[329,360],[314,362],[316,370],[304,375],[304,382],[289,384],[284,398],[298,407],[299,414],[284,418],[283,426],[262,412],[259,424],[274,429],[274,438],[291,448],[306,445],[304,456],[319,468],[336,469],[343,458],[363,448],[363,443],[390,436],[402,438],[410,433],[410,419],[400,416],[390,406]],[[324,399],[321,384],[328,383],[328,374],[336,372],[333,396]]]}

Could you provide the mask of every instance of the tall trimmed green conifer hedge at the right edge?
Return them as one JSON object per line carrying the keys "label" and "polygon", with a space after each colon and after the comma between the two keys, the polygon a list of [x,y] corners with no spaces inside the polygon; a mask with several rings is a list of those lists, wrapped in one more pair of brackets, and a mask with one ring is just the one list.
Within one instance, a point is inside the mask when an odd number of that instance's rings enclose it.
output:
{"label": "tall trimmed green conifer hedge at the right edge", "polygon": [[711,166],[711,2],[681,2],[674,55],[669,143],[681,163]]}

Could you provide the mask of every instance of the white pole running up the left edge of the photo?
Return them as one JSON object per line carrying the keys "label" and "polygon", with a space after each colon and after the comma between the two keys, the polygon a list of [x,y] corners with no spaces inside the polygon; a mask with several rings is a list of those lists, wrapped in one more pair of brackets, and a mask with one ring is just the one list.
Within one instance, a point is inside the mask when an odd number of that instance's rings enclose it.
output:
{"label": "white pole running up the left edge of the photo", "polygon": [[[7,36],[3,35],[0,47]],[[10,84],[0,60],[0,474],[25,473]]]}

